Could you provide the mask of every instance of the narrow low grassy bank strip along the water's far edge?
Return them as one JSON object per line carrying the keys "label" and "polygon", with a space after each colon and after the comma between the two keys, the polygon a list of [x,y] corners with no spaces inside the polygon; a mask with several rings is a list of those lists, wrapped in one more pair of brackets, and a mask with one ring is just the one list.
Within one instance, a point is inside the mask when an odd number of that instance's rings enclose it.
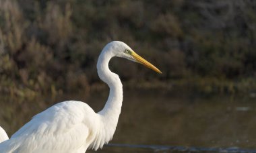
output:
{"label": "narrow low grassy bank strip along the water's far edge", "polygon": [[[3,84],[1,84],[3,85]],[[79,84],[78,84],[79,85]],[[256,97],[256,79],[247,78],[238,81],[220,80],[214,78],[199,78],[191,77],[189,79],[174,79],[169,81],[126,81],[123,82],[124,89],[136,89],[136,90],[161,90],[163,92],[183,92],[193,93],[199,95],[249,95]],[[49,91],[40,91],[31,89],[24,85],[13,85],[9,87],[1,87],[0,93],[9,95],[9,97],[18,97],[22,99],[34,99],[35,97],[51,95],[56,97],[57,95],[83,93],[86,96],[90,92],[94,91],[108,91],[107,85],[102,82],[93,83],[89,85],[87,83],[84,88],[74,87],[73,91],[65,91],[65,86],[55,87],[51,85]]]}

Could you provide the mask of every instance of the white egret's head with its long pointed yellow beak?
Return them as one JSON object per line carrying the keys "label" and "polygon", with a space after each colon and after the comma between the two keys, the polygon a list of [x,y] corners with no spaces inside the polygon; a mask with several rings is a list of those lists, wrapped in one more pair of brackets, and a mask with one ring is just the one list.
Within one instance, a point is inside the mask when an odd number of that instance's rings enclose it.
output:
{"label": "white egret's head with its long pointed yellow beak", "polygon": [[115,54],[115,56],[121,57],[121,58],[127,58],[128,60],[131,60],[133,62],[138,62],[162,74],[162,72],[158,68],[156,68],[156,66],[154,66],[153,64],[151,64],[150,62],[148,62],[147,60],[139,56],[124,42],[113,41],[113,42],[110,42],[107,46],[111,47],[111,49],[113,50],[113,54]]}

